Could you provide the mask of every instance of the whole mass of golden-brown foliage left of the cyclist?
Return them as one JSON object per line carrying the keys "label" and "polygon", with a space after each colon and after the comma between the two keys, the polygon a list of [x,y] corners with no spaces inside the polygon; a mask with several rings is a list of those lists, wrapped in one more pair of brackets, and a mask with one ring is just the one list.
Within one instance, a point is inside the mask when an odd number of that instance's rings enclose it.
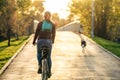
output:
{"label": "whole mass of golden-brown foliage left of the cyclist", "polygon": [[33,21],[42,19],[43,10],[40,1],[0,0],[0,40],[33,33]]}

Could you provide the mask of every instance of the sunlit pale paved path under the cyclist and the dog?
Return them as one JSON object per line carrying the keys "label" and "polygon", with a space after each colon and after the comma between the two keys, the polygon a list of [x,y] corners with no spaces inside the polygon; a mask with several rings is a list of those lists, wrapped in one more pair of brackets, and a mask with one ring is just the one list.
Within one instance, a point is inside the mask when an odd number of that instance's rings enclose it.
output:
{"label": "sunlit pale paved path under the cyclist and the dog", "polygon": [[[83,54],[78,35],[59,31],[55,39],[49,80],[120,80],[120,61],[94,43],[87,40],[86,54]],[[31,43],[32,40],[0,80],[40,80],[36,73],[36,46]]]}

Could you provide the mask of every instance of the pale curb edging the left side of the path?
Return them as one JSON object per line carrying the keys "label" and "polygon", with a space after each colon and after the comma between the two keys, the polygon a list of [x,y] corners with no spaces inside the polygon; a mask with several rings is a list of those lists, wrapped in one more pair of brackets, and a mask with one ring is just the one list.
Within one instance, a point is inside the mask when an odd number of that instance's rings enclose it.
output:
{"label": "pale curb edging the left side of the path", "polygon": [[31,40],[32,35],[24,42],[24,44],[18,49],[18,51],[10,58],[10,60],[2,67],[0,70],[0,75],[4,73],[4,71],[8,68],[8,66],[11,64],[11,62],[14,60],[15,57],[23,50],[25,45]]}

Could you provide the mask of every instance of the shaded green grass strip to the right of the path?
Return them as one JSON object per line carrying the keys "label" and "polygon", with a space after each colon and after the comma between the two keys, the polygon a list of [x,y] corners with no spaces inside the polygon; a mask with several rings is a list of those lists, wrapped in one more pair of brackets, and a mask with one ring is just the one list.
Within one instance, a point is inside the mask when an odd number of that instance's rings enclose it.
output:
{"label": "shaded green grass strip to the right of the path", "polygon": [[108,51],[110,51],[113,54],[115,54],[116,56],[120,57],[120,44],[119,43],[105,40],[105,39],[102,39],[100,37],[95,37],[95,38],[93,38],[93,40],[96,43],[100,44],[105,49],[107,49]]}

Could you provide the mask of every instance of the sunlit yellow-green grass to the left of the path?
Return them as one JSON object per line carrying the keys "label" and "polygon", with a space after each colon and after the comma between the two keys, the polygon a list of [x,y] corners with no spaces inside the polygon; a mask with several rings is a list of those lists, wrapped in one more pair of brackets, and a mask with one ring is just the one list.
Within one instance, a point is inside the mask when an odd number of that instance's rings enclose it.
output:
{"label": "sunlit yellow-green grass to the left of the path", "polygon": [[7,46],[7,40],[0,42],[0,69],[8,62],[8,60],[17,52],[23,45],[27,36],[20,37],[19,40],[11,39],[11,46]]}

